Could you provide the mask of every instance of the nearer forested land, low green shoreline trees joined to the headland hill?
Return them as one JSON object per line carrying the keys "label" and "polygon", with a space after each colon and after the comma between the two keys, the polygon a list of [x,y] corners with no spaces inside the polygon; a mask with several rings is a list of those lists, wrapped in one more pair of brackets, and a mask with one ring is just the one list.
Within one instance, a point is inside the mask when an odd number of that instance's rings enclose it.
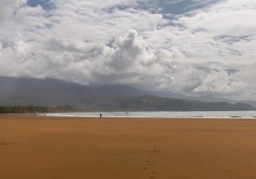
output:
{"label": "nearer forested land, low green shoreline trees joined to the headland hill", "polygon": [[0,113],[68,113],[85,111],[239,111],[256,110],[249,104],[227,102],[202,102],[144,95],[134,98],[118,98],[98,107],[0,107]]}

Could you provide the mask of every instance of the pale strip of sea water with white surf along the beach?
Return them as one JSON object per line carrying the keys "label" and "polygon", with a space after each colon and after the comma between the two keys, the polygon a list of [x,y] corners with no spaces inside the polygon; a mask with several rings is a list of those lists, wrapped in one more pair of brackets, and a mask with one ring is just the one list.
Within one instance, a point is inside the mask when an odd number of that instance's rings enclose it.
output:
{"label": "pale strip of sea water with white surf along the beach", "polygon": [[256,111],[189,111],[189,112],[93,112],[93,113],[54,113],[47,116],[67,117],[148,117],[148,118],[256,118]]}

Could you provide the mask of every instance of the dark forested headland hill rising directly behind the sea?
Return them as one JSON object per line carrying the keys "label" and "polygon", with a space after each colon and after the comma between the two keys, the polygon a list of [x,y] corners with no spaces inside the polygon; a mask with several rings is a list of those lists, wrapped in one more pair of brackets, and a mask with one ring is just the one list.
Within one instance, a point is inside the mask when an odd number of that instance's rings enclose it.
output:
{"label": "dark forested headland hill rising directly behind the sea", "polygon": [[143,95],[134,98],[118,98],[100,107],[114,111],[247,111],[256,110],[249,104],[227,102],[202,102]]}

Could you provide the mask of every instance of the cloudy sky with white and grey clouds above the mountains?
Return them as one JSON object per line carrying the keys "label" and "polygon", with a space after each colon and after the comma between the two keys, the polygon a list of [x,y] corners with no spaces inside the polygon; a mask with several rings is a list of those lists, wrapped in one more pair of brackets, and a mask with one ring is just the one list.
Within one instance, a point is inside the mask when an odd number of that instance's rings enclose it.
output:
{"label": "cloudy sky with white and grey clouds above the mountains", "polygon": [[1,0],[0,76],[256,100],[255,0]]}

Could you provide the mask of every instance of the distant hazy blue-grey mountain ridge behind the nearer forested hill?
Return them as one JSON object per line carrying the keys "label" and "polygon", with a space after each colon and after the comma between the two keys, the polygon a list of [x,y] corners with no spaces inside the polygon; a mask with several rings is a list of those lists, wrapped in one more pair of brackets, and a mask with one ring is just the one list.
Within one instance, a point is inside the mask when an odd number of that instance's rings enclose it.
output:
{"label": "distant hazy blue-grey mountain ridge behind the nearer forested hill", "polygon": [[127,85],[82,86],[53,78],[0,77],[0,106],[99,107],[116,99],[154,95],[203,102],[244,103],[256,107],[256,101],[232,101],[213,96],[191,97],[175,92],[139,90]]}

